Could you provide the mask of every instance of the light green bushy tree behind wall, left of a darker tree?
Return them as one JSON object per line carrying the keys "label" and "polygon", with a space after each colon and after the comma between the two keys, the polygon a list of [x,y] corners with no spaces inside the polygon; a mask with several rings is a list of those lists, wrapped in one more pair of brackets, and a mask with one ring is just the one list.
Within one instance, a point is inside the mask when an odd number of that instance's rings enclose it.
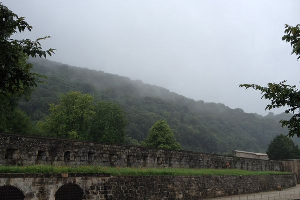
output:
{"label": "light green bushy tree behind wall, left of a darker tree", "polygon": [[93,100],[91,95],[76,91],[63,94],[59,104],[50,104],[50,115],[38,125],[49,136],[88,139],[95,116]]}

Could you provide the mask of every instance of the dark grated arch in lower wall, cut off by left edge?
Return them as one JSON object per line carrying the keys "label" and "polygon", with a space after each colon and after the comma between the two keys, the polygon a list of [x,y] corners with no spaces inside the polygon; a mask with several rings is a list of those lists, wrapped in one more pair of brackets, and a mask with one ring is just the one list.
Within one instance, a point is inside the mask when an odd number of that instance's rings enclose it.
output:
{"label": "dark grated arch in lower wall, cut off by left edge", "polygon": [[0,200],[24,200],[25,196],[21,190],[13,186],[0,187]]}

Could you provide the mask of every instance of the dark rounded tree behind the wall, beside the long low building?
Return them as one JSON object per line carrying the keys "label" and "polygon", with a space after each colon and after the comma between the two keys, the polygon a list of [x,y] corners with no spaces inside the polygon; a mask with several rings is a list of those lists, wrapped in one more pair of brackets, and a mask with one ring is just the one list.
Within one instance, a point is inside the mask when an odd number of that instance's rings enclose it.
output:
{"label": "dark rounded tree behind the wall, beside the long low building", "polygon": [[298,159],[300,158],[300,150],[293,141],[283,134],[274,138],[266,151],[269,159]]}

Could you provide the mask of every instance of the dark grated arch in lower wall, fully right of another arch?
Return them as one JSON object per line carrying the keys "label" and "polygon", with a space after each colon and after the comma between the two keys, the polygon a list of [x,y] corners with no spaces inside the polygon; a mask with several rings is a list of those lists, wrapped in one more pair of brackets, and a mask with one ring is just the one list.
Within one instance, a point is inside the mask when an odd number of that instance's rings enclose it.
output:
{"label": "dark grated arch in lower wall, fully right of another arch", "polygon": [[74,183],[61,186],[55,193],[55,200],[82,200],[83,190]]}

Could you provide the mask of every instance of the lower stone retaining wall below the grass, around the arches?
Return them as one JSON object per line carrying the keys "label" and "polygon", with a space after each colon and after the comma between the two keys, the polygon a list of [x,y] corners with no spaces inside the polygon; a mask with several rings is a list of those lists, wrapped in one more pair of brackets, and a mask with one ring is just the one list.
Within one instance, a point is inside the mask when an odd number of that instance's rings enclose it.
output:
{"label": "lower stone retaining wall below the grass, around the arches", "polygon": [[[202,199],[274,190],[296,185],[295,175],[110,176],[105,174],[0,174],[1,186],[20,189],[25,199],[54,200],[74,183],[83,199]],[[72,190],[75,192],[75,190]],[[1,194],[0,194],[1,195]]]}

